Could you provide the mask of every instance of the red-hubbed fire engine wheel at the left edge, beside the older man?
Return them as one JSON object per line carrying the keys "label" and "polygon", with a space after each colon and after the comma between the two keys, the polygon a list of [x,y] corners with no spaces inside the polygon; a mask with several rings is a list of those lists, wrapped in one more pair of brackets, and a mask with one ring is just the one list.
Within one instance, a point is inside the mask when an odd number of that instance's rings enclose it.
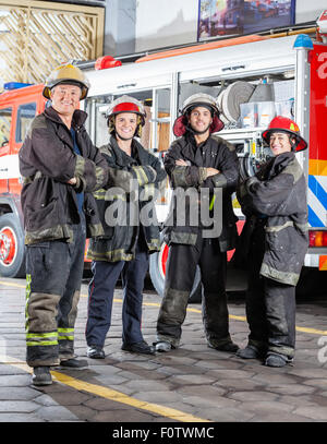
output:
{"label": "red-hubbed fire engine wheel at the left edge, beside the older man", "polygon": [[24,277],[25,244],[20,220],[11,213],[0,216],[0,276]]}

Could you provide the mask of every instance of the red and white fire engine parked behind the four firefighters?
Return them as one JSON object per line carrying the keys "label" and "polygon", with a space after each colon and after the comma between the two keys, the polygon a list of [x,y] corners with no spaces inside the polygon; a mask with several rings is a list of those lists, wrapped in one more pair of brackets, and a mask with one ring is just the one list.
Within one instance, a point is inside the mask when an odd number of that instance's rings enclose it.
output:
{"label": "red and white fire engine parked behind the four firefighters", "polygon": [[[82,103],[89,116],[88,133],[96,146],[108,143],[106,110],[114,98],[128,94],[142,100],[147,111],[143,145],[164,156],[174,139],[172,123],[184,99],[195,93],[207,93],[217,97],[225,121],[219,135],[235,145],[244,178],[254,175],[270,155],[261,137],[269,121],[277,115],[292,118],[308,142],[308,149],[296,155],[307,178],[310,248],[304,265],[326,273],[326,19],[327,11],[322,13],[317,28],[185,46],[147,55],[132,63],[104,57],[92,69],[81,64],[92,85]],[[31,119],[46,106],[41,89],[43,85],[32,85],[0,96],[2,276],[20,276],[24,272],[17,153]],[[167,214],[169,187],[166,194],[157,202],[161,220]],[[244,217],[235,197],[233,205],[241,229]],[[158,293],[164,289],[167,255],[165,243],[159,253],[150,255],[150,277]],[[198,276],[194,289],[197,283]]]}

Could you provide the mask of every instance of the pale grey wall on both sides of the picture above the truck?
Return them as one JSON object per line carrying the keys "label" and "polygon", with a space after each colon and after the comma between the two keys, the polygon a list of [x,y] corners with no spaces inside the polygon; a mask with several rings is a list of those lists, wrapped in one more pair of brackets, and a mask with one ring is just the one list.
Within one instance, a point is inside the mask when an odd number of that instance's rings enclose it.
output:
{"label": "pale grey wall on both sides of the picture above the truck", "polygon": [[[107,0],[105,53],[123,56],[195,43],[198,0]],[[295,21],[315,21],[326,0],[296,0]]]}

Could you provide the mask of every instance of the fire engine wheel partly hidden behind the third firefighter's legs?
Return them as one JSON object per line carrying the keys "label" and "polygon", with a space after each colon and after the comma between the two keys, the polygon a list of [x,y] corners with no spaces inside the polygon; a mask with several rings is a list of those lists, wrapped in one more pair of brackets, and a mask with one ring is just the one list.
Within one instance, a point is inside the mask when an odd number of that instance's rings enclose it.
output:
{"label": "fire engine wheel partly hidden behind the third firefighter's legs", "polygon": [[[164,296],[165,276],[166,276],[166,262],[168,259],[169,247],[162,242],[160,251],[153,253],[149,256],[149,274],[153,286],[159,296]],[[202,285],[201,285],[201,271],[196,268],[193,288],[190,295],[190,302],[201,302],[202,300]]]}

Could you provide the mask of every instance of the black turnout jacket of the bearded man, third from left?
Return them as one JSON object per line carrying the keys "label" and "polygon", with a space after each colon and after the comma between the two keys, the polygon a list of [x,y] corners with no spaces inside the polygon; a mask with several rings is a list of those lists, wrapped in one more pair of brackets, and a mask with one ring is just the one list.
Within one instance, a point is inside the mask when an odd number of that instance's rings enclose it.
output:
{"label": "black turnout jacket of the bearded man, third from left", "polygon": [[[175,160],[183,159],[187,166],[177,166]],[[221,252],[232,250],[238,237],[235,223],[238,220],[233,213],[231,195],[235,191],[239,179],[239,160],[232,144],[217,135],[209,137],[197,145],[192,132],[175,140],[165,156],[165,169],[170,178],[172,189],[193,189],[198,193],[198,209],[201,211],[201,190],[207,189],[211,201],[214,190],[222,190],[222,230],[219,238]],[[211,167],[220,172],[206,177],[206,168]],[[204,201],[202,201],[204,202]],[[210,203],[207,203],[209,205]],[[178,212],[181,211],[177,199],[171,201],[170,217],[166,221],[165,241],[170,243],[196,243],[199,230],[204,229],[198,217],[198,225],[187,219],[192,201],[185,200],[185,224],[179,223]],[[207,235],[207,237],[210,237]],[[213,233],[213,237],[216,237]]]}

